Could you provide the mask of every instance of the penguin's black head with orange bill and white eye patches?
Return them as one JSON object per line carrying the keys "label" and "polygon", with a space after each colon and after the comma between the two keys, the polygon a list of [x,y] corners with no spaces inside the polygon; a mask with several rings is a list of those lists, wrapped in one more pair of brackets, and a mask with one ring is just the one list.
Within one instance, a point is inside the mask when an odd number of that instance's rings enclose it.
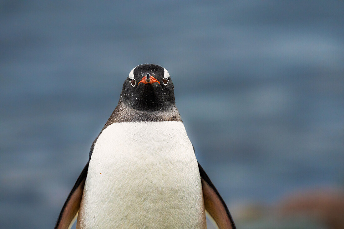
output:
{"label": "penguin's black head with orange bill and white eye patches", "polygon": [[129,73],[120,102],[137,110],[165,110],[175,106],[168,71],[156,64],[141,64]]}

